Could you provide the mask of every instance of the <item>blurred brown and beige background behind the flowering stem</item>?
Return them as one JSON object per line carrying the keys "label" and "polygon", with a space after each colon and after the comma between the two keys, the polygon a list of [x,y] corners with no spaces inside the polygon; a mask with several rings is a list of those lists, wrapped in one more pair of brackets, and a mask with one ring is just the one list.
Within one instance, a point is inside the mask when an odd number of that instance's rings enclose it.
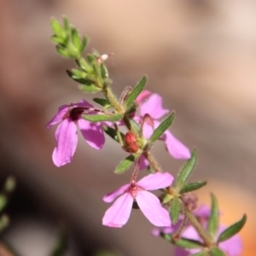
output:
{"label": "blurred brown and beige background behind the flowering stem", "polygon": [[[55,53],[49,19],[67,15],[90,45],[108,60],[117,94],[148,74],[148,90],[175,109],[175,136],[197,147],[193,180],[208,180],[198,195],[218,195],[222,220],[247,212],[241,231],[244,253],[256,249],[255,93],[256,2],[220,0],[88,1],[3,0],[0,9],[0,170],[18,179],[13,222],[5,236],[22,255],[48,255],[58,220],[73,234],[68,255],[110,248],[124,255],[172,255],[166,241],[150,235],[138,211],[122,229],[102,226],[109,207],[102,196],[129,180],[113,175],[125,153],[107,141],[101,151],[79,140],[73,162],[57,168],[51,154],[55,127],[46,124],[65,103],[88,101],[65,70],[73,62]],[[176,174],[183,161],[154,147],[163,169]]]}

